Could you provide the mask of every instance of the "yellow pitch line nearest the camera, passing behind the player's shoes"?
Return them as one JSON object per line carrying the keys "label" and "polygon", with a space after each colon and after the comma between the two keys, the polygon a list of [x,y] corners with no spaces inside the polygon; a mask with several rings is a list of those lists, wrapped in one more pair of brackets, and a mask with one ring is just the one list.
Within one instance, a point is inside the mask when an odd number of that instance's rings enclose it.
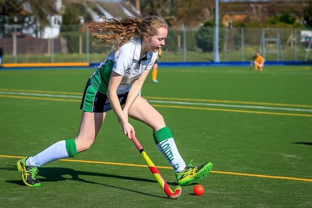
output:
{"label": "yellow pitch line nearest the camera, passing behind the player's shoes", "polygon": [[[21,156],[11,156],[11,155],[0,155],[0,157],[24,158]],[[120,165],[120,166],[134,166],[134,167],[148,168],[147,165],[138,165],[138,164],[131,164],[131,163],[114,163],[114,162],[101,162],[101,161],[91,161],[91,160],[73,160],[73,159],[60,159],[59,161],[78,162],[78,163],[96,163],[96,164],[105,164],[105,165]],[[172,167],[164,167],[164,166],[156,166],[156,168],[173,169]],[[230,174],[230,175],[252,176],[252,177],[260,177],[260,178],[275,178],[275,179],[287,179],[287,180],[312,182],[312,179],[308,179],[308,178],[293,178],[293,177],[285,177],[285,176],[259,175],[259,174],[249,174],[249,173],[240,173],[240,172],[225,172],[225,171],[215,171],[215,170],[212,170],[211,172],[220,173],[220,174]]]}

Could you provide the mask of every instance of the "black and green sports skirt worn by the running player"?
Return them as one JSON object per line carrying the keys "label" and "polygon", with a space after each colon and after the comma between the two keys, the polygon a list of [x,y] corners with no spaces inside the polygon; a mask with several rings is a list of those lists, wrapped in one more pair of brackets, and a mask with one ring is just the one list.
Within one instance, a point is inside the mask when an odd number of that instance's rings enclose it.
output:
{"label": "black and green sports skirt worn by the running player", "polygon": [[[128,92],[118,95],[120,105],[126,103]],[[112,110],[107,95],[99,93],[92,85],[90,79],[84,89],[80,109],[86,112],[103,113]]]}

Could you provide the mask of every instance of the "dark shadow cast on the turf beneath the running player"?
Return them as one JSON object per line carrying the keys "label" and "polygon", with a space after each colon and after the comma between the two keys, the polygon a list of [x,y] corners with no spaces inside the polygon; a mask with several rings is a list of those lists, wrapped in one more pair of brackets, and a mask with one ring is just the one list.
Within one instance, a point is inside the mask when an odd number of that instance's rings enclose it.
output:
{"label": "dark shadow cast on the turf beneath the running player", "polygon": [[[12,168],[0,168],[0,170],[17,171],[17,168],[14,166]],[[20,174],[20,173],[17,172],[17,174]],[[72,178],[66,178],[66,177],[64,177],[65,175],[70,175]],[[157,183],[156,180],[129,177],[129,176],[121,176],[121,175],[112,175],[112,174],[98,173],[98,172],[79,171],[79,170],[74,170],[74,169],[69,169],[69,168],[40,168],[39,173],[38,173],[38,176],[44,177],[44,178],[39,178],[40,182],[55,182],[55,181],[64,181],[64,180],[74,180],[74,181],[80,181],[83,183],[98,184],[98,185],[103,185],[103,186],[117,188],[117,189],[129,190],[129,191],[140,193],[140,194],[145,194],[145,195],[149,195],[149,196],[155,196],[155,197],[167,199],[167,197],[156,196],[156,195],[152,195],[152,194],[148,194],[148,193],[139,192],[136,190],[124,189],[124,188],[115,187],[115,186],[111,186],[111,185],[107,185],[107,184],[101,184],[101,183],[94,182],[94,181],[86,181],[82,178],[79,178],[79,175],[100,176],[100,177],[107,177],[107,178],[118,178],[118,179],[122,179],[122,180],[132,180],[132,181]],[[25,186],[25,184],[22,182],[22,180],[7,180],[5,182],[17,184],[20,186]],[[173,186],[177,185],[176,183],[173,183],[173,182],[167,182],[167,183],[169,185],[173,185]]]}

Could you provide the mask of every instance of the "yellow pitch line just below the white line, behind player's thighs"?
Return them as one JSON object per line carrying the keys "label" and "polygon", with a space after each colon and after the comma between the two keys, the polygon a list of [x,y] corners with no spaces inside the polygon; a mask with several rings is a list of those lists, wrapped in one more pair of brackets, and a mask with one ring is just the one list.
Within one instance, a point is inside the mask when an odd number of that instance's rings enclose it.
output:
{"label": "yellow pitch line just below the white line, behind player's thighs", "polygon": [[[0,97],[20,98],[20,99],[34,99],[34,100],[52,100],[52,101],[69,101],[69,102],[81,102],[79,99],[63,99],[63,98],[51,98],[51,97],[32,97],[32,96],[20,96],[20,95],[0,95]],[[234,109],[219,109],[219,108],[202,108],[202,107],[189,107],[189,106],[171,106],[171,105],[152,105],[160,108],[180,108],[180,109],[193,109],[193,110],[205,110],[205,111],[225,111],[236,113],[258,113],[269,115],[290,115],[290,116],[304,116],[312,117],[312,114],[298,114],[298,113],[274,113],[263,111],[246,111],[246,110],[234,110]]]}

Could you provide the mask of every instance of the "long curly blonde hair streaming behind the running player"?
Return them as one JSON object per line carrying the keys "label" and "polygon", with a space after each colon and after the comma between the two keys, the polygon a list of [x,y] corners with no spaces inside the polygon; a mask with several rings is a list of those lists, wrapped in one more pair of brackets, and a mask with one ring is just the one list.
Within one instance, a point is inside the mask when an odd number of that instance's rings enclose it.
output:
{"label": "long curly blonde hair streaming behind the running player", "polygon": [[143,37],[144,34],[147,34],[151,38],[158,33],[160,27],[168,28],[166,20],[157,16],[149,16],[143,20],[134,17],[101,18],[103,22],[93,22],[90,26],[99,31],[99,33],[92,34],[95,39],[99,40],[93,44],[108,42],[112,45],[116,43],[113,50],[119,49],[133,37]]}

